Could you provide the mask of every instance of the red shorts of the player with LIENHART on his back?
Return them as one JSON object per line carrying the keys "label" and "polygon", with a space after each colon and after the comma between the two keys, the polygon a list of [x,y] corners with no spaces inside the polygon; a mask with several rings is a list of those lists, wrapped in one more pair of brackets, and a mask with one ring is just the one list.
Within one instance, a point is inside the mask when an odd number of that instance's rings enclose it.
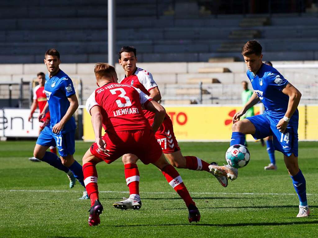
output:
{"label": "red shorts of the player with LIENHART on his back", "polygon": [[154,163],[162,155],[162,149],[150,129],[107,132],[102,139],[106,142],[106,152],[101,151],[96,142],[90,151],[107,164],[124,154],[134,154],[144,164]]}

